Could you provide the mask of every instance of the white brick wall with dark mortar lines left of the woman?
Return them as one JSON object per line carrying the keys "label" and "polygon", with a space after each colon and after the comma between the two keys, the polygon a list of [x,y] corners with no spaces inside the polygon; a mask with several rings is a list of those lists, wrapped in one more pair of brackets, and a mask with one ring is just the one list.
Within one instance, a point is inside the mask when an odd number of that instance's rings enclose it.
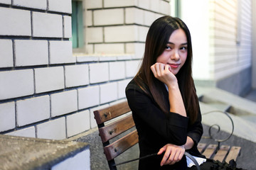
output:
{"label": "white brick wall with dark mortar lines left of the woman", "polygon": [[70,0],[0,0],[1,134],[62,140],[95,128],[92,111],[125,99],[149,25],[170,11],[163,0],[84,2],[87,54],[75,54]]}

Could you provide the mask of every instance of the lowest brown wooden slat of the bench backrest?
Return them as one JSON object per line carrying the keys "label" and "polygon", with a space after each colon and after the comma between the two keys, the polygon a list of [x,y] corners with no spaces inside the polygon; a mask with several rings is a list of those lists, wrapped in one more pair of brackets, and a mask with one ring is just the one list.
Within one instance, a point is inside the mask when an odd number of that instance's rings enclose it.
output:
{"label": "lowest brown wooden slat of the bench backrest", "polygon": [[104,147],[104,153],[107,160],[110,161],[111,159],[114,159],[119,154],[122,154],[122,152],[137,144],[137,142],[139,142],[139,137],[137,130],[134,130],[112,144],[107,145]]}

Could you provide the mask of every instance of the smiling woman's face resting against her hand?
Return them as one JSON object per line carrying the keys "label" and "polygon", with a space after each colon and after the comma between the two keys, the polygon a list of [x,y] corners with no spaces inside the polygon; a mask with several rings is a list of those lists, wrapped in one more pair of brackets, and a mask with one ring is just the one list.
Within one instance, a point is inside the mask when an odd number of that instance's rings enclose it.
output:
{"label": "smiling woman's face resting against her hand", "polygon": [[182,29],[174,30],[166,44],[164,52],[157,57],[156,62],[168,64],[171,72],[176,75],[186,62],[188,41]]}

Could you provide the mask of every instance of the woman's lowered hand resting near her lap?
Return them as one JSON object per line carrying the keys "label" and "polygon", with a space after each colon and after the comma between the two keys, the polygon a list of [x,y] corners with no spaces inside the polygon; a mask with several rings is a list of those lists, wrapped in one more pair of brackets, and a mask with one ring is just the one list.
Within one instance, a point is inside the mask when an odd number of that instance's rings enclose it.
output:
{"label": "woman's lowered hand resting near her lap", "polygon": [[163,152],[165,153],[163,159],[161,160],[161,166],[167,164],[175,164],[176,162],[181,161],[185,153],[185,148],[183,146],[167,144],[159,149],[159,152],[157,154],[162,154]]}

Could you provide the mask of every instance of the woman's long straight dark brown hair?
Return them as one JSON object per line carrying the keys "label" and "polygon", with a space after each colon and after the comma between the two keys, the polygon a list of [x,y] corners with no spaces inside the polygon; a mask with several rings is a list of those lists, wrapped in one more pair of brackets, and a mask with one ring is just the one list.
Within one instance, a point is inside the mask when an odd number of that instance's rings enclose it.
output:
{"label": "woman's long straight dark brown hair", "polygon": [[[134,81],[140,86],[140,88],[145,91],[146,94],[151,93],[154,101],[158,104],[161,111],[168,115],[169,113],[169,103],[166,103],[164,99],[164,91],[159,88],[164,86],[164,84],[154,77],[151,72],[151,65],[156,63],[156,58],[159,57],[162,52],[164,52],[167,42],[174,30],[181,28],[186,33],[186,38],[188,41],[188,55],[186,62],[183,67],[176,74],[178,80],[178,86],[181,91],[181,96],[186,108],[186,113],[190,117],[190,122],[195,122],[198,115],[198,98],[196,96],[196,89],[192,78],[192,45],[191,45],[191,35],[183,21],[179,18],[173,18],[171,16],[163,16],[158,18],[149,28],[149,32],[146,35],[146,44],[144,51],[144,58],[142,60],[142,66],[139,72],[134,77]],[[149,87],[149,91],[146,87]]]}

